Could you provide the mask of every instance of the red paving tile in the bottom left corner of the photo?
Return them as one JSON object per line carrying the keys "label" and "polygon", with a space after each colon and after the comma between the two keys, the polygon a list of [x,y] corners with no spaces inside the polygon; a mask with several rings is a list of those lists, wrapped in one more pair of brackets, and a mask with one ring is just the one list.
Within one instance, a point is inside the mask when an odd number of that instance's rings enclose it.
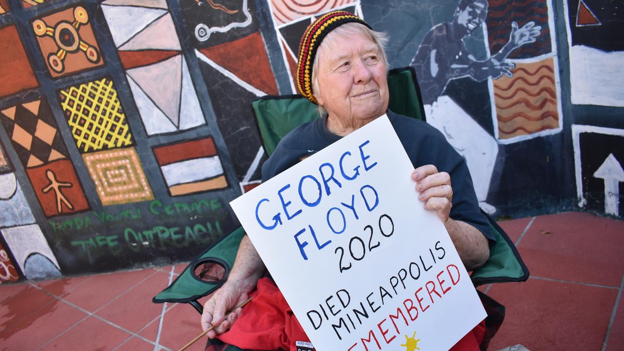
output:
{"label": "red paving tile in the bottom left corner of the photo", "polygon": [[0,345],[6,350],[36,350],[84,317],[84,312],[54,300],[0,332]]}

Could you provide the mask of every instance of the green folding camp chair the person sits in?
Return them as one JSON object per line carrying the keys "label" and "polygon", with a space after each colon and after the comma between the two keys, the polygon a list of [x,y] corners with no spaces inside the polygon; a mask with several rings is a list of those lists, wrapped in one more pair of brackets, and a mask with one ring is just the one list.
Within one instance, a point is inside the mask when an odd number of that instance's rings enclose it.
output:
{"label": "green folding camp chair the person sits in", "polygon": [[[389,71],[388,87],[389,109],[425,121],[414,69],[406,67]],[[288,132],[319,117],[316,105],[301,95],[265,96],[253,101],[251,106],[268,156],[273,154],[281,138]],[[472,273],[473,284],[479,286],[497,282],[524,282],[529,278],[529,270],[522,262],[515,245],[489,215],[484,215],[490,222],[490,229],[497,242],[490,245],[490,258],[485,265]],[[202,305],[197,299],[212,293],[227,280],[243,235],[243,229],[239,227],[205,250],[167,289],[156,295],[153,302],[187,302],[201,314]]]}

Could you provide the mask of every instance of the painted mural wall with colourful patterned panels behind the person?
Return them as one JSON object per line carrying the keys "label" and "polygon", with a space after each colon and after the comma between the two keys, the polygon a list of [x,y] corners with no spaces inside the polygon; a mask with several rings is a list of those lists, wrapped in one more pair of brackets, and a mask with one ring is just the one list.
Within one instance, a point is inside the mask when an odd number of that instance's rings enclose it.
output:
{"label": "painted mural wall with colourful patterned panels behind the person", "polygon": [[607,0],[0,0],[0,283],[188,260],[266,160],[250,102],[301,34],[388,32],[482,209],[624,217],[624,16]]}

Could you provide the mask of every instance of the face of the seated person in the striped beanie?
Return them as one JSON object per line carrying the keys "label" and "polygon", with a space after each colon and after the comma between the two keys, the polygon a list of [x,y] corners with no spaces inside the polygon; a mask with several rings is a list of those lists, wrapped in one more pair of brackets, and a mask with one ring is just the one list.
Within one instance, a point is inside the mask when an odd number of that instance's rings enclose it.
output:
{"label": "face of the seated person in the striped beanie", "polygon": [[337,35],[319,48],[317,59],[314,97],[330,117],[357,129],[386,113],[387,68],[379,47],[368,37]]}

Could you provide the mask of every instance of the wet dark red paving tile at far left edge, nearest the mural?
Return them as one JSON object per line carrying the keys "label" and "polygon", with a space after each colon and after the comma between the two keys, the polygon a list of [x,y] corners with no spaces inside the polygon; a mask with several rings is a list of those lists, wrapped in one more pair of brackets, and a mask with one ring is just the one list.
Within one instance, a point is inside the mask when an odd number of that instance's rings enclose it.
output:
{"label": "wet dark red paving tile at far left edge, nearest the mural", "polygon": [[19,291],[19,294],[0,303],[0,332],[17,324],[52,300],[54,297],[27,285],[26,289]]}

